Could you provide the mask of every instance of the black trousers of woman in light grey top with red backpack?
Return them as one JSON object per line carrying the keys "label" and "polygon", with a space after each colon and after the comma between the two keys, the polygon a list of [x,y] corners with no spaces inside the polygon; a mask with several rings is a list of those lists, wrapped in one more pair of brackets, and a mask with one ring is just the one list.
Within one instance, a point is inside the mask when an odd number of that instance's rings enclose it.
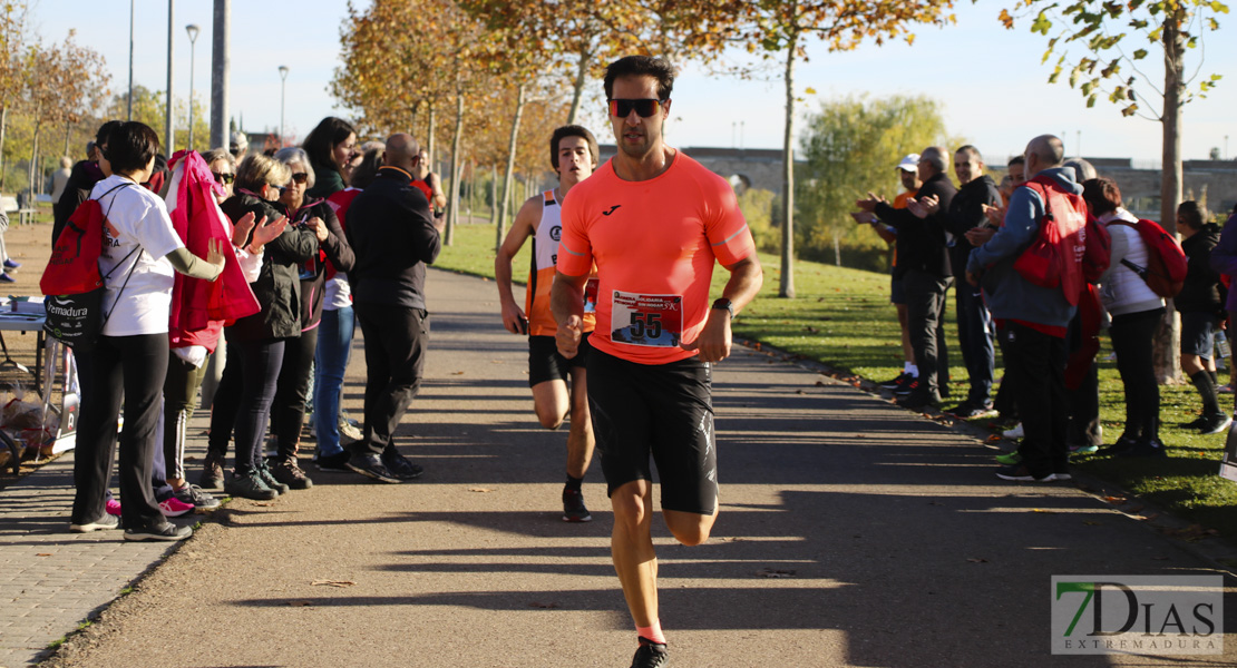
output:
{"label": "black trousers of woman in light grey top with red backpack", "polygon": [[1164,309],[1118,315],[1108,328],[1126,388],[1124,436],[1134,440],[1159,437],[1159,383],[1152,351],[1162,317]]}

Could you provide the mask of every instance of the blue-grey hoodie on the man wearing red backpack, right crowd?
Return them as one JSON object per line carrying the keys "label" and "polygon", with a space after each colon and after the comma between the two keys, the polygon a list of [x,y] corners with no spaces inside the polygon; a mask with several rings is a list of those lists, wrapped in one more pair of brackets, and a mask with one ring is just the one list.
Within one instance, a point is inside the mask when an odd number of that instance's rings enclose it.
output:
{"label": "blue-grey hoodie on the man wearing red backpack, right crowd", "polygon": [[[1074,180],[1074,169],[1055,167],[1039,174],[1051,177],[1066,191],[1081,195],[1082,186]],[[1065,327],[1074,317],[1060,288],[1040,288],[1028,283],[1013,263],[1039,236],[1044,217],[1044,200],[1030,188],[1018,188],[1009,199],[1004,225],[987,243],[971,251],[966,270],[982,274],[980,285],[992,317],[1021,320],[1050,327]]]}

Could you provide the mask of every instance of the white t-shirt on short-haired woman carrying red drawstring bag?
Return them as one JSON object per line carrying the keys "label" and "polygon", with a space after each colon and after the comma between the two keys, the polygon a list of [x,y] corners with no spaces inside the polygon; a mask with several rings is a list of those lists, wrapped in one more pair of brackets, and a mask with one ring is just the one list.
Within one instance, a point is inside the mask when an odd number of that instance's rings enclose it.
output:
{"label": "white t-shirt on short-haired woman carrying red drawstring bag", "polygon": [[[121,184],[129,185],[116,188]],[[167,333],[174,269],[165,256],[184,247],[167,206],[158,195],[119,174],[96,183],[90,199],[99,200],[106,216],[99,270],[106,288],[101,315],[110,312],[111,317],[103,327],[104,336]]]}

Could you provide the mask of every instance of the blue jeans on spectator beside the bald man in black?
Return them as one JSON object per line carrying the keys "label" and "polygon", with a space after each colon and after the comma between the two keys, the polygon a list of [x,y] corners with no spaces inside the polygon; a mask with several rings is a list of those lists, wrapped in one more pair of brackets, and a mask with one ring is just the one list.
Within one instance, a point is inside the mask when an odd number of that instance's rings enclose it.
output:
{"label": "blue jeans on spectator beside the bald man in black", "polygon": [[339,395],[344,389],[344,370],[353,352],[355,328],[351,306],[322,312],[313,375],[314,433],[318,435],[319,456],[344,451],[339,445]]}

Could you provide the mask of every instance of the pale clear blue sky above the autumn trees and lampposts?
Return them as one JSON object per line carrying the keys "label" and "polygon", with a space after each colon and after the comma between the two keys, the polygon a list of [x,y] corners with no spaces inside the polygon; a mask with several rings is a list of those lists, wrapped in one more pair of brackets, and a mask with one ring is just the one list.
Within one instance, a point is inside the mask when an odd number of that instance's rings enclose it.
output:
{"label": "pale clear blue sky above the autumn trees and lampposts", "polygon": [[[33,23],[47,41],[59,41],[69,30],[79,43],[103,53],[113,74],[113,90],[127,86],[129,2],[124,0],[41,0],[33,4]],[[359,4],[364,4],[361,0]],[[176,2],[176,81],[178,96],[189,88],[187,23],[202,27],[197,42],[195,90],[209,99],[210,0]],[[867,44],[851,53],[810,48],[802,64],[797,89],[808,110],[823,100],[866,93],[872,96],[927,94],[945,102],[951,135],[975,143],[993,162],[1021,152],[1027,140],[1043,132],[1064,133],[1066,149],[1092,157],[1132,157],[1158,161],[1160,126],[1142,119],[1123,119],[1106,100],[1086,109],[1082,96],[1068,85],[1047,83],[1049,65],[1040,65],[1045,40],[1024,26],[1004,30],[996,20],[1006,4],[980,0],[957,4],[957,25],[944,30],[922,27],[914,46],[903,42]],[[167,0],[136,0],[134,80],[162,90],[167,77]],[[291,68],[287,79],[287,128],[303,136],[323,116],[341,114],[327,90],[339,64],[339,30],[346,16],[343,0],[233,1],[231,116],[244,117],[250,131],[275,130],[280,123],[278,65]],[[1186,158],[1206,158],[1212,147],[1237,156],[1237,16],[1221,16],[1221,30],[1209,33],[1205,73],[1230,74],[1206,100],[1185,107],[1183,149]],[[1197,54],[1192,54],[1194,58]],[[1150,80],[1162,80],[1152,52]],[[1194,64],[1197,61],[1192,61]],[[600,83],[595,89],[600,90]],[[815,94],[807,94],[808,88]],[[675,146],[731,146],[738,143],[742,122],[747,148],[782,146],[784,93],[781,80],[743,81],[706,74],[688,65],[675,84],[668,136]],[[597,135],[609,131],[597,114],[586,119]],[[182,121],[183,122],[183,121]],[[802,123],[800,123],[802,127]],[[160,128],[162,130],[162,128]]]}

